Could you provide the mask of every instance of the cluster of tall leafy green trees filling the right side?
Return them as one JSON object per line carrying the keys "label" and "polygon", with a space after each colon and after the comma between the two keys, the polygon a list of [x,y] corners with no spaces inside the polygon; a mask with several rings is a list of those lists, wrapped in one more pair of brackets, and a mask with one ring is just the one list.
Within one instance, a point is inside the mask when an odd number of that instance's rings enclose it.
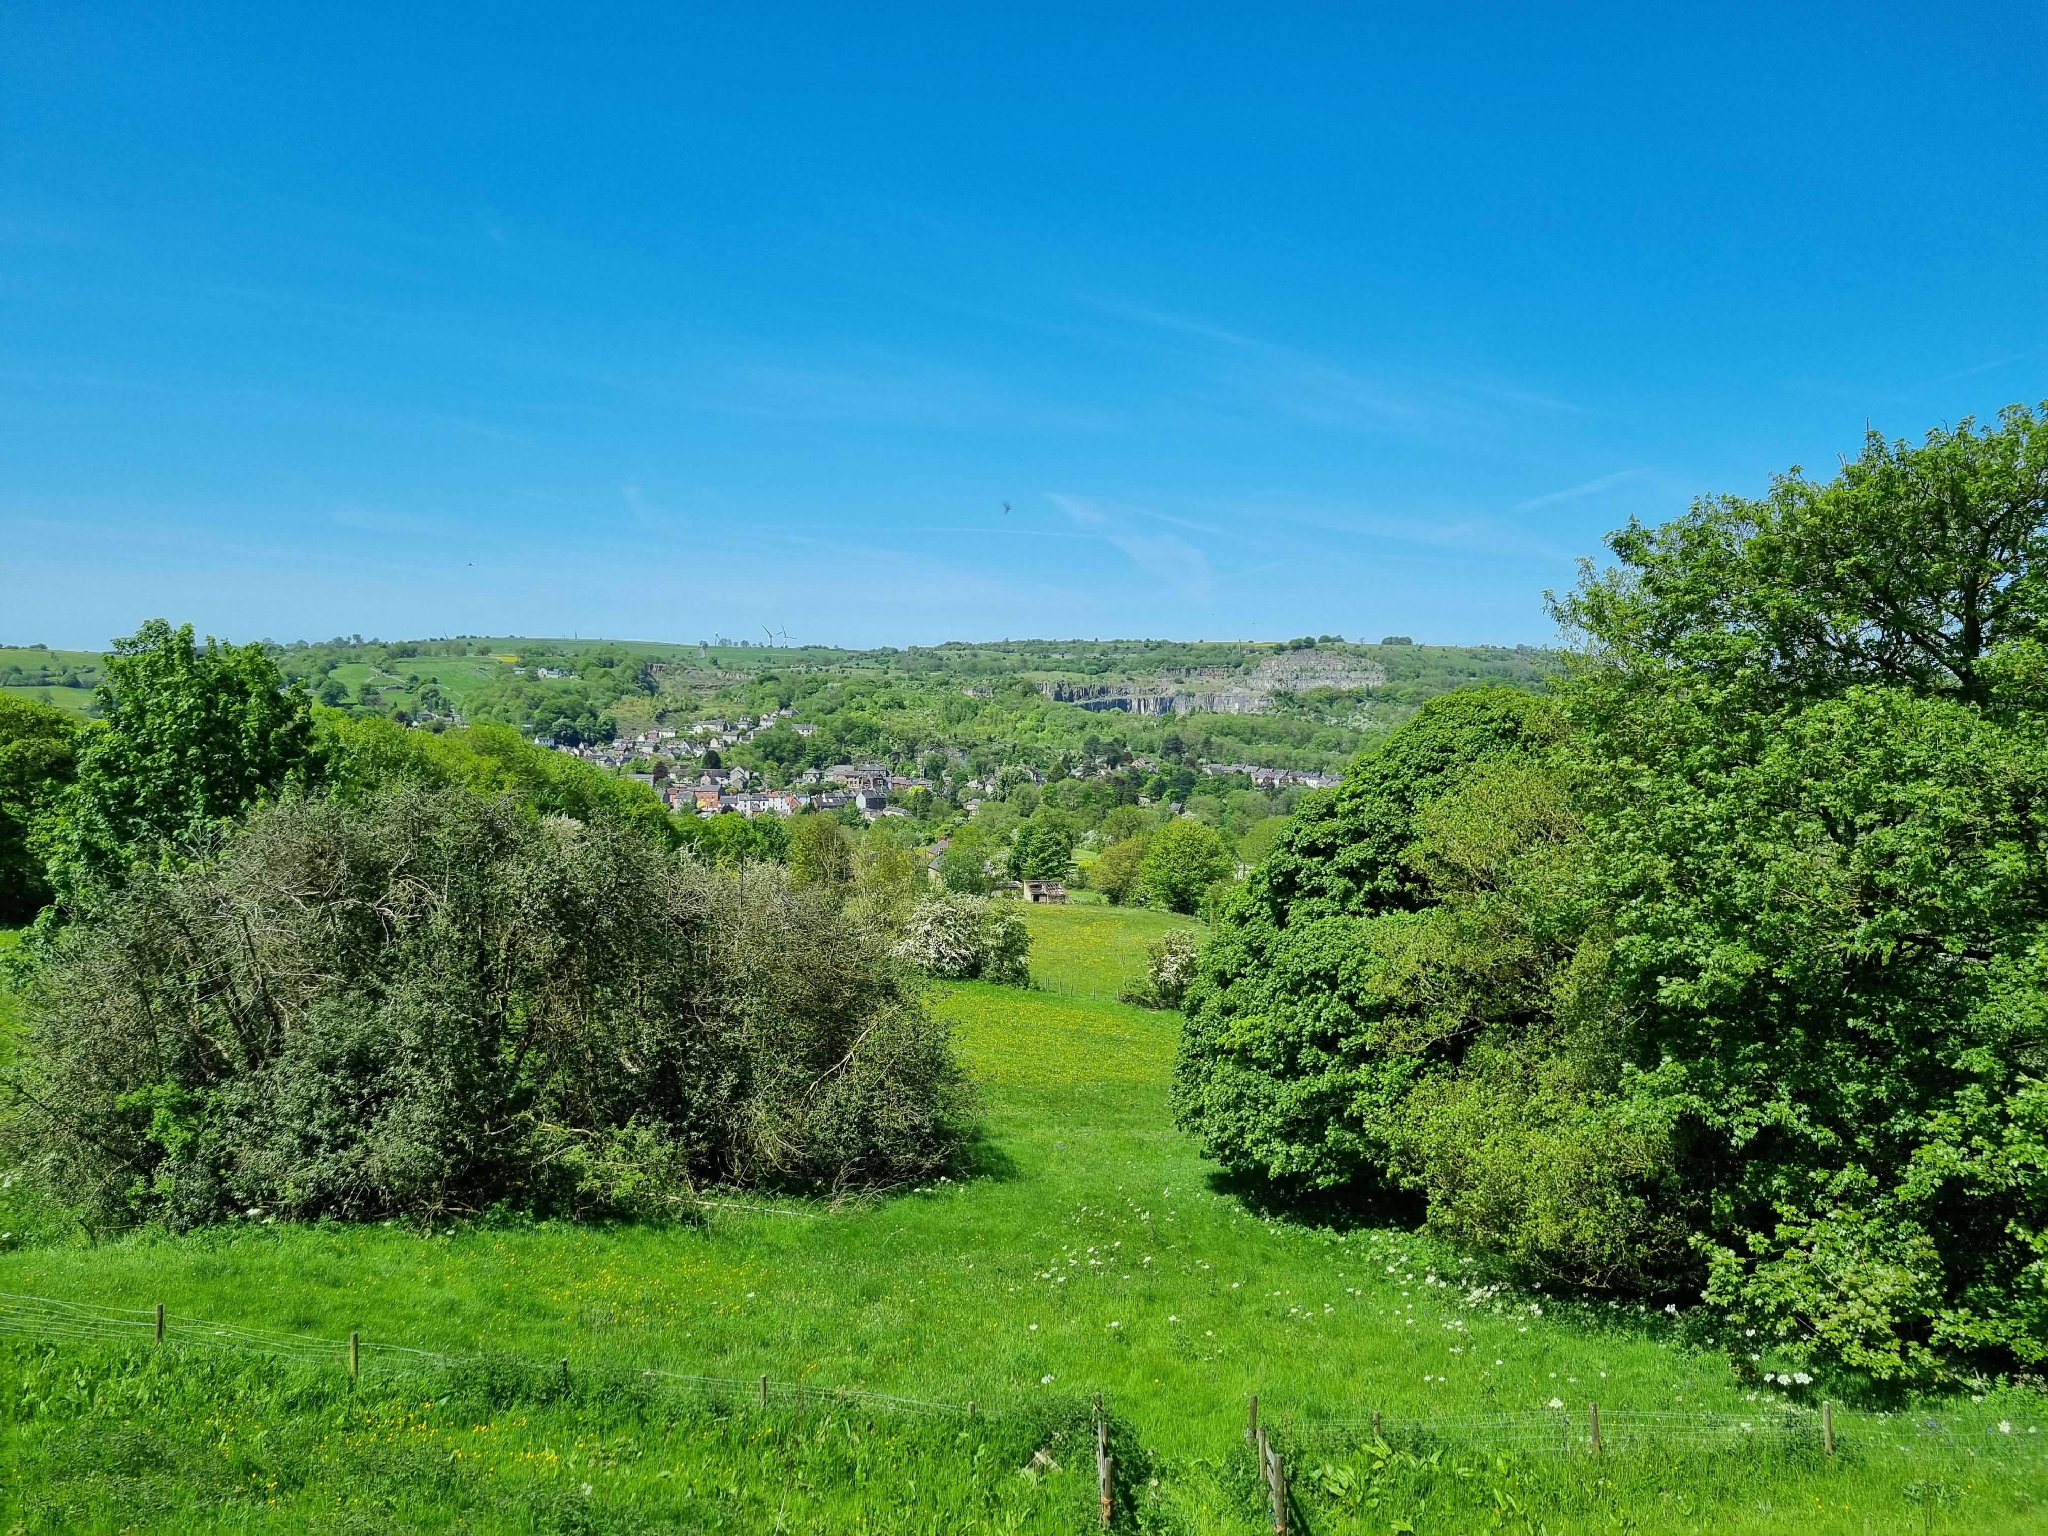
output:
{"label": "cluster of tall leafy green trees filling the right side", "polygon": [[1548,700],[1440,698],[1296,811],[1190,993],[1182,1120],[1706,1298],[1739,1364],[2048,1360],[2040,434],[1616,535]]}

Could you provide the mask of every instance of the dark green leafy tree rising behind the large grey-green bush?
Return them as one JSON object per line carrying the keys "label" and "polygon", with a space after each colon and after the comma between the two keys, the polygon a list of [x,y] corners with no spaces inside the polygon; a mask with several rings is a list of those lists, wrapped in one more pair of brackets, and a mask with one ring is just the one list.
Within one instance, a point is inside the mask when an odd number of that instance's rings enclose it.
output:
{"label": "dark green leafy tree rising behind the large grey-green bush", "polygon": [[115,641],[104,727],[78,754],[70,858],[80,872],[180,858],[287,784],[319,780],[313,705],[262,645],[199,645],[152,618]]}

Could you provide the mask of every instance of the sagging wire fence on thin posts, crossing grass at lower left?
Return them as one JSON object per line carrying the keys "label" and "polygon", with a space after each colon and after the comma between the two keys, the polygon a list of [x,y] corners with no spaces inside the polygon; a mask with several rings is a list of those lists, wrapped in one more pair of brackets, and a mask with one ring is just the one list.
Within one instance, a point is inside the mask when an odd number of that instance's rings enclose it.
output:
{"label": "sagging wire fence on thin posts, crossing grass at lower left", "polygon": [[[569,1362],[537,1360],[530,1356],[477,1354],[449,1350],[418,1350],[408,1343],[383,1343],[350,1333],[346,1339],[330,1339],[317,1333],[281,1333],[274,1329],[242,1327],[219,1323],[207,1317],[186,1317],[162,1309],[92,1307],[76,1300],[55,1300],[51,1296],[20,1296],[0,1292],[0,1335],[14,1333],[39,1339],[61,1339],[72,1343],[178,1343],[217,1350],[236,1350],[305,1366],[332,1366],[350,1374],[365,1374],[365,1368],[457,1368],[465,1364],[520,1360],[532,1370],[569,1372]],[[588,1366],[586,1366],[588,1370]],[[662,1368],[606,1368],[627,1370],[645,1380],[690,1386],[700,1393],[725,1395],[733,1399],[754,1399],[768,1403],[823,1405],[860,1403],[862,1407],[887,1413],[913,1413],[926,1417],[989,1417],[977,1403],[930,1403],[918,1397],[895,1393],[870,1393],[860,1386],[836,1386],[819,1382],[774,1380],[770,1376],[702,1376],[684,1370]]]}

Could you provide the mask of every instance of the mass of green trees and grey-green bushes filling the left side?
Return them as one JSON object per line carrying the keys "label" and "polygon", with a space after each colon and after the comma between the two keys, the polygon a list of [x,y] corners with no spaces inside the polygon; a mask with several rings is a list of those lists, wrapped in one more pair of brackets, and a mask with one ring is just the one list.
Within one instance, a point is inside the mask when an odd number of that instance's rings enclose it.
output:
{"label": "mass of green trees and grey-green bushes filling the left side", "polygon": [[[162,623],[102,702],[70,786],[76,727],[0,700],[0,895],[31,915],[51,846],[78,895],[16,952],[0,1149],[88,1225],[678,1212],[961,1145],[948,1032],[842,911],[838,825],[805,827],[838,879],[795,885],[780,817],[315,709],[262,647]],[[877,836],[870,866],[922,868]]]}

